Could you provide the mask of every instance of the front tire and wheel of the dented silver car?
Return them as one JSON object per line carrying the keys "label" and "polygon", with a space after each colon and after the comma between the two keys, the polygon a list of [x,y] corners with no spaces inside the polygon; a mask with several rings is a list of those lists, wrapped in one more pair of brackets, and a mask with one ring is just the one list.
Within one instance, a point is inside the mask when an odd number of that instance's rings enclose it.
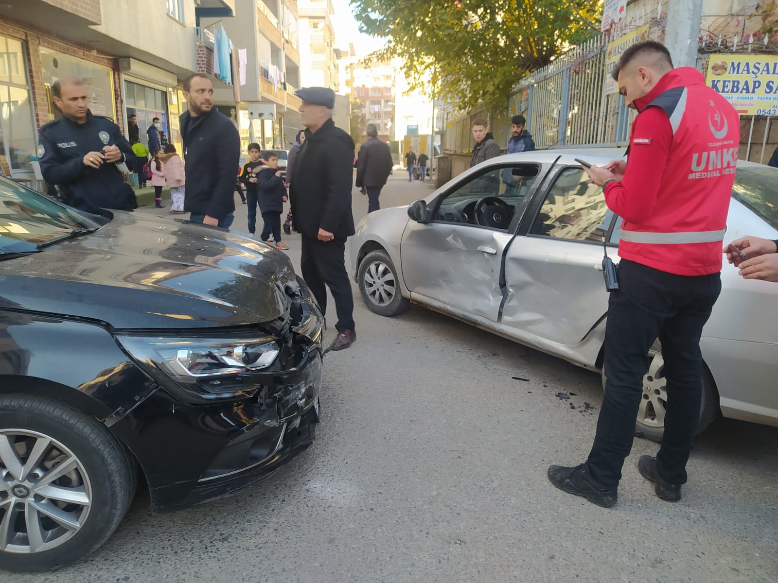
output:
{"label": "front tire and wheel of the dented silver car", "polygon": [[400,292],[400,276],[384,250],[367,253],[357,271],[359,293],[370,308],[380,316],[398,316],[411,307]]}

